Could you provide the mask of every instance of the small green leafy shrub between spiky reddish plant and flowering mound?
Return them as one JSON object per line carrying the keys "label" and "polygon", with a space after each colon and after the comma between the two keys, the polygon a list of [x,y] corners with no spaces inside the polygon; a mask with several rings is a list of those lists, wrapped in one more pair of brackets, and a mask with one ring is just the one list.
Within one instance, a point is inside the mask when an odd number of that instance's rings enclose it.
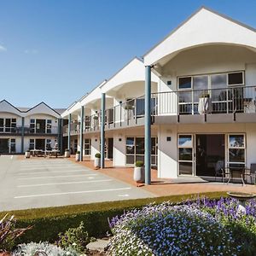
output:
{"label": "small green leafy shrub between spiky reddish plant and flowering mound", "polygon": [[86,252],[86,245],[90,243],[91,239],[88,232],[85,231],[84,223],[81,222],[78,228],[70,228],[64,234],[59,234],[59,241],[57,245],[67,249],[72,247],[77,253]]}

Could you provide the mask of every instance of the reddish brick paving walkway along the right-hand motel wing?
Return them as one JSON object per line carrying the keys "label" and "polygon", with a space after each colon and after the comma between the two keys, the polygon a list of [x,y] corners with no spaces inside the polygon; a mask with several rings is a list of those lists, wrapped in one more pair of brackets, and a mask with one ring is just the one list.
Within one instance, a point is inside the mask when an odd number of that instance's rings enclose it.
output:
{"label": "reddish brick paving walkway along the right-hand motel wing", "polygon": [[[70,160],[75,161],[73,157]],[[80,165],[86,166],[95,172],[104,173],[110,177],[119,179],[125,183],[129,183],[133,186],[137,186],[137,183],[133,181],[133,167],[113,167],[111,160],[105,161],[106,168],[96,170],[94,162],[89,159],[84,159],[83,162],[78,162]],[[156,196],[164,195],[186,195],[197,194],[205,192],[217,192],[217,191],[240,191],[256,194],[255,185],[241,186],[241,184],[226,184],[226,183],[176,183],[175,179],[160,179],[157,178],[157,171],[151,170],[152,184],[145,186],[140,184],[141,189],[145,189],[148,192]]]}

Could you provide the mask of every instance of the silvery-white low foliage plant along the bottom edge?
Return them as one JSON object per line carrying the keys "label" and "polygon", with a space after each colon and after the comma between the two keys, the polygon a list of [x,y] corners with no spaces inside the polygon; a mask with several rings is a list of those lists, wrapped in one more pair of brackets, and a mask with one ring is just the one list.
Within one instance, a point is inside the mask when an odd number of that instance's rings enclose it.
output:
{"label": "silvery-white low foliage plant along the bottom edge", "polygon": [[76,253],[72,248],[67,248],[66,250],[63,250],[61,247],[49,244],[46,241],[38,243],[30,242],[27,244],[20,244],[12,255],[39,256],[44,255],[43,253],[46,253],[47,256],[79,256],[79,253]]}

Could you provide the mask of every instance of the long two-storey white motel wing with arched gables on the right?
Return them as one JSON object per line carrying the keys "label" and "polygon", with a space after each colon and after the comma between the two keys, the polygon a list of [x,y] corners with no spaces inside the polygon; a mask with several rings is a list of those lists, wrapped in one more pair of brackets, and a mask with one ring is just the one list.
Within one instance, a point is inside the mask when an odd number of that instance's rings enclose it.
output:
{"label": "long two-storey white motel wing with arched gables on the right", "polygon": [[[67,146],[158,177],[216,178],[256,163],[256,31],[199,9],[61,114]],[[102,143],[104,142],[104,143]],[[217,177],[220,178],[220,177]]]}

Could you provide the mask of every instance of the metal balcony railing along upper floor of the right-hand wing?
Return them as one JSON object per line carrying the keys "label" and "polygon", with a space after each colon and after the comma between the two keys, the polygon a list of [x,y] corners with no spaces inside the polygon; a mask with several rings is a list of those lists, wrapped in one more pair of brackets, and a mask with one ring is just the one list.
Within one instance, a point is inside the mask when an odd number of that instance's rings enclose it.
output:
{"label": "metal balcony railing along upper floor of the right-hand wing", "polygon": [[[120,102],[105,111],[106,128],[137,124],[145,114],[144,96]],[[233,86],[207,90],[177,90],[152,93],[151,115],[195,115],[214,113],[256,113],[256,86]],[[102,113],[86,117],[84,131],[99,131]],[[79,133],[80,124],[71,125]],[[67,125],[64,127],[67,133]]]}

